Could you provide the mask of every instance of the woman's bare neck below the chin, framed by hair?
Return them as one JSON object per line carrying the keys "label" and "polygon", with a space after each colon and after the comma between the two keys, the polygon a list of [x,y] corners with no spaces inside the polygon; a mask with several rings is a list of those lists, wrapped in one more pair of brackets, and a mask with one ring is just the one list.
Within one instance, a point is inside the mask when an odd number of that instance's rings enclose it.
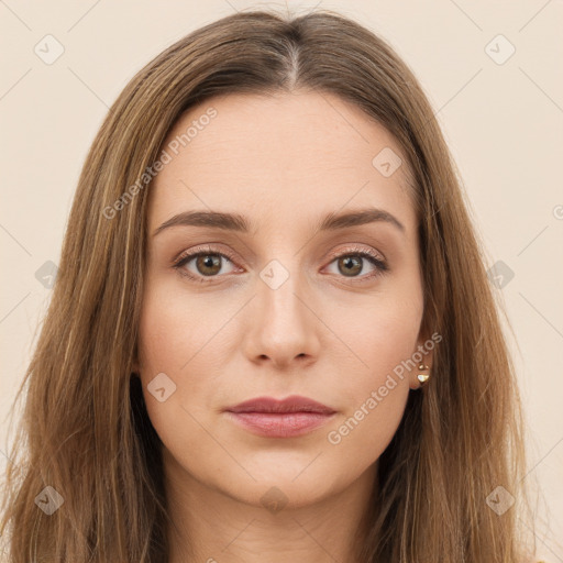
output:
{"label": "woman's bare neck below the chin, framed by hair", "polygon": [[[360,562],[376,464],[339,492],[276,506],[274,490],[260,490],[255,501],[235,498],[194,478],[166,449],[163,456],[174,522],[168,563]],[[265,507],[268,494],[274,503]]]}

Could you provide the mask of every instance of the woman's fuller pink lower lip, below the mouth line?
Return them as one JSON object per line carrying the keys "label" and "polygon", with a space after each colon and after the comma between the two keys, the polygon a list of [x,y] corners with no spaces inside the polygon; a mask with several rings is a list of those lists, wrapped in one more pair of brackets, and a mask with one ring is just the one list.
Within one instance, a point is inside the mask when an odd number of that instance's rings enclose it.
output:
{"label": "woman's fuller pink lower lip, below the mouth line", "polygon": [[250,432],[267,438],[294,438],[323,426],[333,417],[321,412],[230,412]]}

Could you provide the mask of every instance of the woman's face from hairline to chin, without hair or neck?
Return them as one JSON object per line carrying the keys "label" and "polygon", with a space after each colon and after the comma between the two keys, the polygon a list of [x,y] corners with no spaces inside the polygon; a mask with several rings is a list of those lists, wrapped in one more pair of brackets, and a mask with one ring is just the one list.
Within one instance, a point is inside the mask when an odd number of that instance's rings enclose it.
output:
{"label": "woman's face from hairline to chin, without hair or neck", "polygon": [[[332,95],[232,95],[192,108],[165,151],[137,367],[168,475],[256,506],[343,490],[374,471],[418,385],[401,364],[424,339],[398,145]],[[388,216],[336,219],[375,209]],[[291,431],[287,415],[227,410],[296,395],[333,413],[294,415]]]}

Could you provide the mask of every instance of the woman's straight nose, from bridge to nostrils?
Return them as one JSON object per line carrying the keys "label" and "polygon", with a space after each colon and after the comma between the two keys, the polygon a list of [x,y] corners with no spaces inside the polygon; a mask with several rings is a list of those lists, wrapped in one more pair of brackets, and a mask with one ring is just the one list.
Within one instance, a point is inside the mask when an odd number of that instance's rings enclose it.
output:
{"label": "woman's straight nose, from bridge to nostrils", "polygon": [[[267,274],[257,280],[256,296],[247,311],[243,350],[253,363],[271,363],[278,369],[303,367],[316,361],[322,322],[298,275],[289,275],[279,286]],[[287,275],[287,274],[286,274]],[[266,282],[264,282],[264,279]]]}

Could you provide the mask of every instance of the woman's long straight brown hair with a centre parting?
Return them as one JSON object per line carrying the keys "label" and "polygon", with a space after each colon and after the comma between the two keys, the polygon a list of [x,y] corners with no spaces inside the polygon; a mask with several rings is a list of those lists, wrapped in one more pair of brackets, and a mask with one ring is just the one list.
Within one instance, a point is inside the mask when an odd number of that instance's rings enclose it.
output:
{"label": "woman's long straight brown hair with a centre parting", "polygon": [[[500,303],[455,165],[394,49],[358,23],[317,10],[240,12],[208,24],[155,57],[111,107],[79,178],[52,301],[18,394],[26,387],[2,520],[11,562],[166,562],[173,522],[162,444],[131,377],[153,164],[196,103],[296,89],[355,103],[400,143],[419,219],[421,330],[442,335],[430,383],[410,394],[379,459],[362,561],[528,556],[516,508],[500,515],[487,503],[498,486],[518,504],[526,499],[523,426]],[[41,501],[58,509],[47,515]]]}

